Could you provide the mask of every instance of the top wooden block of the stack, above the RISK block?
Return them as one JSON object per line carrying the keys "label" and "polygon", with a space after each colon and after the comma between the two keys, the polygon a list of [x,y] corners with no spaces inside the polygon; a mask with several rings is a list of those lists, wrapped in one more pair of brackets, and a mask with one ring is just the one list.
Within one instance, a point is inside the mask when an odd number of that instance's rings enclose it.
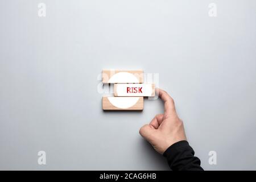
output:
{"label": "top wooden block of the stack, above the RISK block", "polygon": [[127,84],[127,83],[143,83],[143,71],[119,71],[119,70],[103,70],[102,82],[104,84]]}

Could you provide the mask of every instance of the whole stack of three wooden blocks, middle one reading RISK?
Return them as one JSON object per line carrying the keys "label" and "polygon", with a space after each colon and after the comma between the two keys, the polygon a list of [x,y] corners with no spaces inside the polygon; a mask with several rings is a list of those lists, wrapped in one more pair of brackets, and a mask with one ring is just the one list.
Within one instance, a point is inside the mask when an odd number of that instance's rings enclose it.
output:
{"label": "whole stack of three wooden blocks, middle one reading RISK", "polygon": [[102,97],[103,110],[143,110],[144,97],[155,96],[154,84],[143,84],[143,71],[102,71],[102,82],[114,84],[114,96]]}

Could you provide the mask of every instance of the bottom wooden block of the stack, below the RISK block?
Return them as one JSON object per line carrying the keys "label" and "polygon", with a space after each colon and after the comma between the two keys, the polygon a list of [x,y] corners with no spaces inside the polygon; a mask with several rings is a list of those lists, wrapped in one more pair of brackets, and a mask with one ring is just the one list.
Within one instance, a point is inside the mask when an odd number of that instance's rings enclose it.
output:
{"label": "bottom wooden block of the stack, below the RISK block", "polygon": [[143,110],[143,97],[102,97],[103,110]]}

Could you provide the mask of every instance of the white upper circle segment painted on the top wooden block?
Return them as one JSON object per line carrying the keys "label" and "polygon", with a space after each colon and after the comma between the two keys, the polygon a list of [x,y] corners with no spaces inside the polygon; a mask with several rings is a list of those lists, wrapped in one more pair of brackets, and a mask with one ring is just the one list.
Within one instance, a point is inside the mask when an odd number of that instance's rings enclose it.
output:
{"label": "white upper circle segment painted on the top wooden block", "polygon": [[132,73],[119,72],[110,77],[109,83],[138,83],[139,80]]}

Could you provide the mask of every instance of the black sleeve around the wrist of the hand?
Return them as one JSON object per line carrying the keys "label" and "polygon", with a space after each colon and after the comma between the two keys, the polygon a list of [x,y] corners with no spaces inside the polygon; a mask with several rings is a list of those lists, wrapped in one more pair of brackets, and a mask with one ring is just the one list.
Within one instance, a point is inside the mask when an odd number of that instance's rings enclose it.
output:
{"label": "black sleeve around the wrist of the hand", "polygon": [[194,156],[193,148],[186,140],[172,144],[164,152],[170,168],[174,171],[181,170],[204,170],[200,166],[200,159]]}

